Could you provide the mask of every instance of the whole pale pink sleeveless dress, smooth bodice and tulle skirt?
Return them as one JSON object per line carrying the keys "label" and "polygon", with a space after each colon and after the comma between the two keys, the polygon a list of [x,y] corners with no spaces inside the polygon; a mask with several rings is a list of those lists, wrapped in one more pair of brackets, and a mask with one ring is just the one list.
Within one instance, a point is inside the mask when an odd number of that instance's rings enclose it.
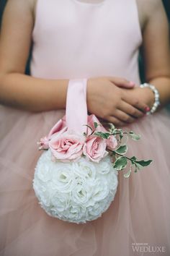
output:
{"label": "whole pale pink sleeveless dress, smooth bodice and tulle skirt", "polygon": [[[32,40],[34,77],[117,76],[140,84],[135,0],[39,0]],[[48,216],[32,189],[36,142],[63,115],[0,107],[0,255],[170,255],[169,114],[162,110],[128,126],[142,136],[129,142],[129,154],[153,163],[130,179],[120,173],[107,212],[79,225]]]}

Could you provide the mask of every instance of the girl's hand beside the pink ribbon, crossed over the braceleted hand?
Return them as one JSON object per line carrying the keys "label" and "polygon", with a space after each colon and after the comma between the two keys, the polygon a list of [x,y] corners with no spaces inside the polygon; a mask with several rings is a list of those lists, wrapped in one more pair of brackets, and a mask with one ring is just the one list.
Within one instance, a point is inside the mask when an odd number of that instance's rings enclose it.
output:
{"label": "girl's hand beside the pink ribbon, crossed over the braceleted hand", "polygon": [[[87,106],[90,113],[112,122],[116,126],[132,123],[146,113],[147,104],[137,101],[125,92],[133,90],[127,80],[117,77],[91,78],[87,83]],[[122,89],[126,87],[129,89]]]}

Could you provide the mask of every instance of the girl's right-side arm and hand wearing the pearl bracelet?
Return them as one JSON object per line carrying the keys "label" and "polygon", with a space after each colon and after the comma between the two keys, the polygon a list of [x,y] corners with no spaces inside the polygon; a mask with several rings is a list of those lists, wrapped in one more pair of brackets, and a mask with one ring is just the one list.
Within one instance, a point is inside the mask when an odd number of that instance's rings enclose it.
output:
{"label": "girl's right-side arm and hand wearing the pearl bracelet", "polygon": [[[158,89],[161,106],[170,101],[170,47],[169,24],[161,0],[138,0],[143,11],[143,57],[146,70],[146,82]],[[141,4],[141,5],[140,5]],[[153,105],[153,93],[149,88],[125,90],[125,95],[138,98]],[[130,99],[127,101],[130,102]]]}

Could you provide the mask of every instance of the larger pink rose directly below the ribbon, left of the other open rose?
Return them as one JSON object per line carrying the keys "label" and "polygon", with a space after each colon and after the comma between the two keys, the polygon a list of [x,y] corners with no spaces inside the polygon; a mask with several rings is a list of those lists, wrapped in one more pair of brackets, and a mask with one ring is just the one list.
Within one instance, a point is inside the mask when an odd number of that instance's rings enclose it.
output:
{"label": "larger pink rose directly below the ribbon, left of the other open rose", "polygon": [[59,132],[49,142],[53,157],[61,161],[77,160],[83,153],[84,137],[72,132]]}

